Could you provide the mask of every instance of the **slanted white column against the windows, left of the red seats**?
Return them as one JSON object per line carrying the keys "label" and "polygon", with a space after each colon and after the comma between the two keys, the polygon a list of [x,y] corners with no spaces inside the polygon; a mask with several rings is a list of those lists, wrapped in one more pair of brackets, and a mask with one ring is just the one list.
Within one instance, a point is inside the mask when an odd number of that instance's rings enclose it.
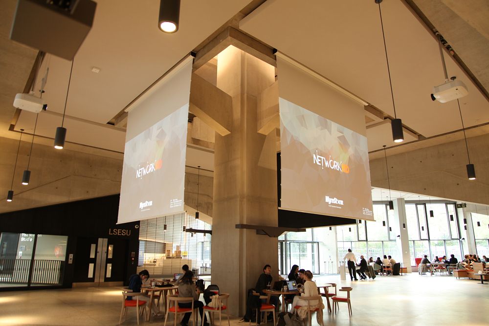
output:
{"label": "slanted white column against the windows, left of the red seats", "polygon": [[[394,233],[400,237],[396,237],[396,243],[398,251],[401,254],[399,258],[402,262],[402,266],[406,267],[406,271],[411,273],[411,253],[409,252],[409,238],[407,234],[407,219],[406,219],[406,206],[404,198],[398,198],[394,200],[394,222],[392,225]],[[403,223],[406,224],[406,228],[403,228]]]}

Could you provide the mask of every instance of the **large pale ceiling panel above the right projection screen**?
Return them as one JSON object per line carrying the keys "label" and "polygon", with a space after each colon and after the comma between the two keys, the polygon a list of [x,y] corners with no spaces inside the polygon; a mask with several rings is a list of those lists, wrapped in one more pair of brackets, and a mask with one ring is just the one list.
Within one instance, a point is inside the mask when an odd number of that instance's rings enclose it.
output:
{"label": "large pale ceiling panel above the right projection screen", "polygon": [[[432,88],[444,82],[433,33],[402,1],[383,1],[381,8],[398,117],[426,137],[461,129],[456,101],[442,104],[430,99]],[[311,0],[307,6],[296,0],[268,0],[245,17],[240,28],[394,116],[373,0]],[[449,76],[457,76],[469,90],[460,101],[465,126],[487,119],[486,98],[450,56],[445,54],[445,60]],[[369,150],[375,147],[381,144],[369,144]]]}

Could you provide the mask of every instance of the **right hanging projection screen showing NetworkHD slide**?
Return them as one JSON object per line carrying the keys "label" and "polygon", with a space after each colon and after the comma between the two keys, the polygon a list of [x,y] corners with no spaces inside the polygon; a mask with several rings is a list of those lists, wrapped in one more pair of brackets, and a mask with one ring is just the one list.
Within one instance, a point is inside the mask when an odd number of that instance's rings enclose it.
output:
{"label": "right hanging projection screen showing NetworkHD slide", "polygon": [[281,209],[373,220],[364,107],[297,66],[277,67]]}

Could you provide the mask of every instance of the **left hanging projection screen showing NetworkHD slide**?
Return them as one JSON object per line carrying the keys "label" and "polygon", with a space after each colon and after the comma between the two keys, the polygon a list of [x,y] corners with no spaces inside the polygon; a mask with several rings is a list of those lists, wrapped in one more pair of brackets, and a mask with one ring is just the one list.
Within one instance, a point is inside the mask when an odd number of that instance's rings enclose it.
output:
{"label": "left hanging projection screen showing NetworkHD slide", "polygon": [[191,74],[188,58],[128,110],[117,223],[184,211]]}

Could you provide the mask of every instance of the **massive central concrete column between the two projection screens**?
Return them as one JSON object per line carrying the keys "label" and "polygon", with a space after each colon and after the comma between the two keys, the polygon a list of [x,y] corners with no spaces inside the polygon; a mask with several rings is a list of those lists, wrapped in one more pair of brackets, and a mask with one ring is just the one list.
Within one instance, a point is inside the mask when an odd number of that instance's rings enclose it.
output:
{"label": "massive central concrete column between the two projection screens", "polygon": [[232,315],[244,315],[246,293],[263,266],[278,279],[278,239],[235,224],[277,226],[276,134],[257,132],[257,97],[274,67],[229,46],[218,55],[217,87],[232,97],[232,130],[216,133],[212,283],[229,293]]}

